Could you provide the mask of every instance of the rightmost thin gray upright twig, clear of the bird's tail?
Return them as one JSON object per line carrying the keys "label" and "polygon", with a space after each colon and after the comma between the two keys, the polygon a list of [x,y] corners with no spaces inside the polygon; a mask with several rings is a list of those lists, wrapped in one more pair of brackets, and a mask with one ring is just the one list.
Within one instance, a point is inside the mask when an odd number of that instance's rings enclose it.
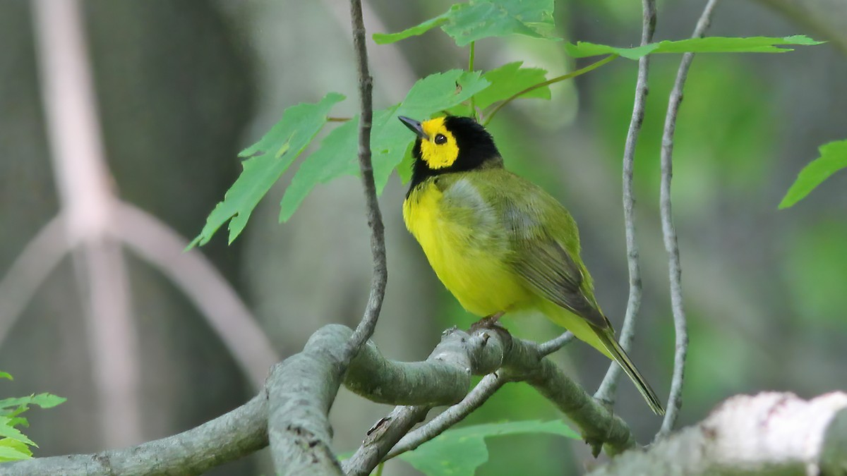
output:
{"label": "rightmost thin gray upright twig, clear of the bird's tail", "polygon": [[[717,0],[709,0],[706,3],[703,14],[697,20],[692,38],[701,38],[706,34],[716,5]],[[671,380],[671,395],[667,399],[667,413],[662,420],[662,428],[656,434],[656,439],[669,434],[677,421],[679,407],[682,406],[685,355],[688,352],[688,330],[685,323],[681,284],[682,268],[679,265],[677,231],[673,227],[673,213],[671,211],[671,178],[673,177],[673,132],[676,130],[677,113],[679,105],[683,102],[683,88],[693,59],[694,53],[685,53],[679,63],[677,79],[673,83],[673,91],[671,91],[671,96],[667,101],[665,129],[662,133],[662,188],[659,208],[662,212],[662,235],[665,237],[665,249],[668,255],[667,268],[671,281],[671,307],[673,307],[673,328],[676,333],[676,351],[673,355],[673,379]]]}

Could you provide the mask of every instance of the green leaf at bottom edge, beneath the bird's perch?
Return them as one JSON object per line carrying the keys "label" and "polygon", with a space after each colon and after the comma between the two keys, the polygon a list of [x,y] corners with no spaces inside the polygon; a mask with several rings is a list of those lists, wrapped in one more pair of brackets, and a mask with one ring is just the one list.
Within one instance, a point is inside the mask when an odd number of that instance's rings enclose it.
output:
{"label": "green leaf at bottom edge, beneath the bird's perch", "polygon": [[486,423],[449,429],[399,458],[427,476],[473,476],[476,469],[488,461],[486,437],[527,433],[580,439],[579,434],[561,420]]}

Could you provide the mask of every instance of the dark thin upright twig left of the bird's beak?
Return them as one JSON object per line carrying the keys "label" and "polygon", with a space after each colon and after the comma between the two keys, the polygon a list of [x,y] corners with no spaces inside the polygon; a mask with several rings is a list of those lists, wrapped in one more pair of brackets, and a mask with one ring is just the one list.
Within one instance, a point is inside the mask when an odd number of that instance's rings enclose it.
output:
{"label": "dark thin upright twig left of the bird's beak", "polygon": [[365,192],[365,205],[368,210],[368,226],[371,229],[371,253],[374,258],[374,274],[371,278],[370,296],[365,307],[362,321],[356,328],[345,353],[345,362],[350,362],[364,343],[374,335],[379,311],[385,297],[385,283],[388,280],[388,267],[385,264],[385,226],[376,198],[374,185],[374,167],[371,163],[370,132],[374,119],[372,91],[374,79],[368,71],[368,47],[365,45],[365,26],[362,18],[362,0],[350,0],[350,15],[353,29],[353,48],[356,50],[357,71],[359,76],[359,99],[362,113],[359,116],[359,169],[362,172],[362,185]]}

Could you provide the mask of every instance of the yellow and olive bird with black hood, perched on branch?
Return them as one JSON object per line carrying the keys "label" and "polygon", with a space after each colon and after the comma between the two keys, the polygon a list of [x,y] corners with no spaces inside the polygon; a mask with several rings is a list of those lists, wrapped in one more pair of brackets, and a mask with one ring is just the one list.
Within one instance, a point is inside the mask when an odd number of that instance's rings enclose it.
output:
{"label": "yellow and olive bird with black hood, perched on branch", "polygon": [[418,136],[403,219],[462,307],[493,319],[543,313],[614,359],[663,414],[597,305],[567,209],[505,169],[494,139],[474,119],[399,119]]}

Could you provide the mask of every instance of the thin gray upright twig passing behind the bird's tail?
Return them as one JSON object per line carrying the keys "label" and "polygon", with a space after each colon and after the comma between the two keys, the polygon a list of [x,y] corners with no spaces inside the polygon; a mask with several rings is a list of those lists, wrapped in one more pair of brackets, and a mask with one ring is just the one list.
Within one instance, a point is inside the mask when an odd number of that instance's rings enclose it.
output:
{"label": "thin gray upright twig passing behind the bird's tail", "polygon": [[[642,0],[644,22],[641,27],[641,45],[653,41],[656,31],[656,0]],[[633,190],[633,170],[635,162],[635,145],[644,122],[645,102],[647,99],[647,77],[650,71],[650,55],[639,58],[638,80],[635,83],[635,100],[633,115],[629,119],[627,141],[623,147],[623,224],[627,237],[627,267],[629,269],[629,298],[627,312],[623,318],[618,342],[624,350],[629,350],[635,337],[635,321],[641,307],[641,268],[639,267],[638,242],[635,241],[635,192]],[[606,371],[606,377],[597,389],[595,398],[603,401],[609,407],[615,402],[617,382],[622,368],[612,363]]]}

